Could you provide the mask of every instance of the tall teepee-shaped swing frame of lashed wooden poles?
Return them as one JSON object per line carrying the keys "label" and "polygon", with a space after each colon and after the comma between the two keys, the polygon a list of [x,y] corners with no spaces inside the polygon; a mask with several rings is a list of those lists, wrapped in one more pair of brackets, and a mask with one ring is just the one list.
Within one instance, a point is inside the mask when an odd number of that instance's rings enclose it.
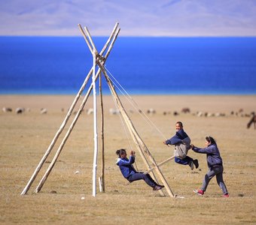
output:
{"label": "tall teepee-shaped swing frame of lashed wooden poles", "polygon": [[[142,157],[142,160],[144,161],[145,165],[147,166],[148,170],[145,173],[151,172],[152,177],[154,178],[155,181],[157,181],[156,176],[154,175],[153,169],[155,169],[155,171],[157,172],[157,175],[159,176],[160,180],[162,181],[163,185],[166,187],[166,191],[169,194],[169,196],[175,197],[175,194],[172,193],[171,188],[169,187],[169,184],[166,181],[166,178],[164,178],[163,173],[160,171],[160,166],[163,165],[163,163],[166,163],[167,161],[171,160],[173,157],[163,161],[162,163],[158,164],[156,163],[156,161],[154,160],[154,157],[151,155],[151,152],[148,150],[147,146],[145,145],[145,143],[143,142],[142,138],[139,136],[139,133],[136,131],[136,128],[133,125],[133,122],[131,121],[129,115],[127,115],[126,110],[124,109],[119,96],[117,95],[117,92],[114,89],[113,84],[111,83],[110,78],[108,77],[108,74],[105,70],[105,61],[108,58],[108,55],[111,51],[111,49],[113,48],[114,45],[114,41],[117,39],[117,35],[120,31],[120,28],[118,27],[118,23],[116,23],[116,25],[114,26],[114,29],[111,33],[111,36],[108,38],[107,42],[105,43],[105,46],[102,48],[101,52],[97,52],[96,50],[96,46],[93,43],[92,37],[90,36],[90,32],[87,29],[87,27],[83,28],[81,27],[81,25],[78,25],[81,33],[84,36],[84,39],[86,40],[86,43],[90,49],[90,52],[93,54],[93,67],[91,68],[89,74],[87,74],[86,79],[84,80],[83,85],[81,86],[81,89],[79,90],[78,94],[75,97],[75,100],[72,103],[72,106],[69,109],[69,112],[66,115],[66,118],[64,119],[64,121],[62,122],[61,126],[59,127],[59,130],[56,132],[56,135],[53,137],[52,142],[50,143],[49,147],[47,148],[47,151],[45,152],[44,156],[42,157],[40,163],[38,163],[38,166],[35,169],[35,172],[32,174],[32,177],[29,179],[28,184],[26,184],[26,187],[24,187],[23,192],[21,193],[21,195],[26,194],[29,190],[29,188],[32,185],[32,182],[35,180],[36,175],[38,175],[38,172],[40,171],[41,167],[43,166],[43,163],[45,162],[45,160],[47,159],[47,156],[50,154],[50,151],[53,149],[53,146],[56,143],[56,140],[58,139],[60,133],[62,133],[62,130],[64,129],[64,127],[66,126],[67,121],[69,120],[70,115],[72,115],[72,111],[74,110],[75,104],[77,104],[78,99],[81,97],[81,93],[84,91],[84,88],[88,82],[88,80],[90,79],[90,76],[93,74],[94,76],[94,80],[93,83],[90,85],[87,94],[84,97],[84,100],[78,110],[78,113],[76,113],[74,120],[72,121],[72,124],[69,127],[69,130],[66,132],[66,135],[64,136],[64,138],[62,139],[61,144],[59,145],[59,148],[56,151],[55,156],[53,157],[53,160],[51,161],[50,165],[47,168],[47,171],[44,173],[43,177],[41,178],[41,181],[39,182],[38,186],[35,188],[35,193],[38,193],[41,190],[41,187],[43,187],[44,182],[46,181],[48,175],[50,174],[51,170],[53,169],[53,166],[56,163],[57,158],[59,157],[60,152],[62,151],[62,148],[64,147],[67,139],[69,138],[70,133],[72,132],[72,129],[75,127],[76,122],[78,121],[78,117],[79,115],[81,115],[82,110],[84,109],[84,105],[87,102],[87,98],[90,95],[90,92],[93,89],[93,85],[95,86],[95,81],[98,79],[98,77],[102,72],[102,74],[104,74],[105,76],[105,80],[108,83],[109,89],[111,90],[111,95],[113,95],[114,100],[116,101],[116,105],[118,107],[118,110],[120,111],[120,115],[123,117],[123,121],[125,121],[125,124],[128,128],[128,130],[130,131],[130,135],[133,138],[133,141],[136,143],[136,148],[139,150],[139,153]],[[105,50],[108,48],[107,52],[104,54]],[[98,71],[95,73],[95,69],[96,69],[96,65],[99,67]],[[103,107],[102,104],[102,89],[101,89],[101,83],[102,80],[101,78],[99,78],[99,89],[100,89],[100,96],[101,96],[101,109]],[[102,174],[101,177],[99,178],[99,180],[101,181],[100,183],[102,184],[102,190],[105,191],[105,181],[104,181],[104,117],[103,117],[103,110],[101,110],[101,115],[102,115],[102,124],[101,124],[101,133],[102,133]],[[97,153],[96,153],[97,154]],[[151,164],[153,164],[153,166],[150,165],[150,163],[148,162],[150,161]],[[94,174],[96,176],[96,172]],[[93,187],[93,196],[96,196],[96,187]],[[163,190],[159,190],[161,195],[165,195],[163,193]]]}

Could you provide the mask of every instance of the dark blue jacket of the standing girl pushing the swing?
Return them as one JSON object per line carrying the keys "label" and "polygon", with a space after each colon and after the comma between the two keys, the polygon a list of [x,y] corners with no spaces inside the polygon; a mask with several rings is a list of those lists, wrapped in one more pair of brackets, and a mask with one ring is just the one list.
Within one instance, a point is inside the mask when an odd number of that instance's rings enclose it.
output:
{"label": "dark blue jacket of the standing girl pushing the swing", "polygon": [[209,168],[212,168],[216,165],[222,165],[222,158],[220,151],[218,151],[218,146],[215,144],[209,145],[206,148],[192,148],[193,151],[198,153],[206,154],[207,164]]}

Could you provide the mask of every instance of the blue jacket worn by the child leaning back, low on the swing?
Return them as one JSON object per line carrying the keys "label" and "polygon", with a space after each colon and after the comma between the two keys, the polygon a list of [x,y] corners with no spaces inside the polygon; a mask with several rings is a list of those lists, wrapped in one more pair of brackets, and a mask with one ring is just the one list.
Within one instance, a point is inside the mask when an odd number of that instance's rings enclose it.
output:
{"label": "blue jacket worn by the child leaning back, low on the swing", "polygon": [[130,155],[130,159],[128,158],[118,158],[117,159],[117,166],[119,166],[120,171],[123,174],[124,178],[128,178],[130,175],[135,174],[137,171],[133,167],[133,163],[135,162],[135,157],[133,155]]}

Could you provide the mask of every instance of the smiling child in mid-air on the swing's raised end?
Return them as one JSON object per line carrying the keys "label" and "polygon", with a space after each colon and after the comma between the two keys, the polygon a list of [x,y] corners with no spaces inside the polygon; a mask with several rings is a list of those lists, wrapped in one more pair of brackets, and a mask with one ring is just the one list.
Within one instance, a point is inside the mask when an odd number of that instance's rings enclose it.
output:
{"label": "smiling child in mid-air on the swing's raised end", "polygon": [[190,138],[187,133],[183,130],[183,124],[181,121],[176,122],[176,133],[170,139],[167,139],[163,143],[165,145],[175,145],[174,156],[175,163],[182,165],[189,165],[190,169],[194,169],[194,165],[198,168],[198,160],[187,156],[187,151],[190,149]]}

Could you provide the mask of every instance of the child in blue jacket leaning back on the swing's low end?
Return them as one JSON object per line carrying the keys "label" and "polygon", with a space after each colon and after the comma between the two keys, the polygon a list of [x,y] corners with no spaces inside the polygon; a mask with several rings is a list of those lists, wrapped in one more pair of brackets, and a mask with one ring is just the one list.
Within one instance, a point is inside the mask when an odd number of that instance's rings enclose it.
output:
{"label": "child in blue jacket leaning back on the swing's low end", "polygon": [[157,184],[151,175],[144,174],[143,172],[137,172],[133,167],[133,163],[135,162],[135,151],[130,151],[130,158],[127,158],[126,150],[121,148],[116,151],[118,155],[117,166],[119,166],[120,171],[123,174],[123,177],[128,181],[138,181],[144,180],[149,186],[153,187],[153,190],[161,190],[164,186]]}

